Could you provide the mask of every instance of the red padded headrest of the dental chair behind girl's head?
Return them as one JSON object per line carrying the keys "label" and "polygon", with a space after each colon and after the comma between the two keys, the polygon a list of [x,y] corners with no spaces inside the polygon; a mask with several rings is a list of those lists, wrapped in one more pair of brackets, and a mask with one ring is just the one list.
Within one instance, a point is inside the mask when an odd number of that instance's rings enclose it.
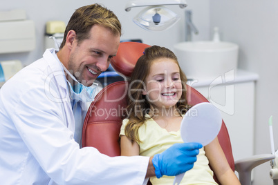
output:
{"label": "red padded headrest of the dental chair behind girl's head", "polygon": [[131,77],[137,60],[148,47],[150,46],[145,43],[121,42],[117,55],[111,59],[111,66],[125,77]]}

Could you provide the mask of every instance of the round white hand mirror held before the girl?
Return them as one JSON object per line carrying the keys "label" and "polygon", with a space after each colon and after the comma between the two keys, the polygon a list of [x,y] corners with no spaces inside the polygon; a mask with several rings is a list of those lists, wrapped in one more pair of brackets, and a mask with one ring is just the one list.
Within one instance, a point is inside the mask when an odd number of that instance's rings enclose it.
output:
{"label": "round white hand mirror held before the girl", "polygon": [[206,146],[215,139],[221,126],[220,110],[204,102],[187,111],[180,124],[180,135],[183,142],[198,142]]}

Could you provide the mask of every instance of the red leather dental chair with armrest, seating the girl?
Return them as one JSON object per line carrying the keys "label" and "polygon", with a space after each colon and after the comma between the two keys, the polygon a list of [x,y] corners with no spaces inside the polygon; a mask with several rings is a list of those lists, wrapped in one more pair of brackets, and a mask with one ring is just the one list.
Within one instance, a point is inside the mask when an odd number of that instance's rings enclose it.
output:
{"label": "red leather dental chair with armrest, seating the girl", "polygon": [[[84,120],[83,147],[93,146],[100,153],[111,157],[120,155],[119,133],[124,117],[124,108],[127,106],[128,79],[133,72],[137,59],[147,47],[149,45],[145,43],[120,43],[117,56],[111,60],[111,66],[125,80],[109,84],[96,95]],[[201,102],[208,102],[201,93],[190,86],[187,86],[187,100],[188,104],[192,106]],[[255,155],[248,159],[242,159],[235,164],[230,137],[224,121],[222,121],[218,139],[232,171],[236,170],[239,173],[239,179],[243,185],[251,184],[251,171],[254,167],[275,158],[274,155],[270,154]],[[214,179],[219,182],[215,176]]]}

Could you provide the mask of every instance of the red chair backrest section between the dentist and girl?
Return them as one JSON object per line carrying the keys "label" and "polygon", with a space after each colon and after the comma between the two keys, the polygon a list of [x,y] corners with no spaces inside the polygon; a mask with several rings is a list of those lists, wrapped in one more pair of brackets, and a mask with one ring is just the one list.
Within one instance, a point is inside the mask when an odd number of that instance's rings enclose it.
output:
{"label": "red chair backrest section between the dentist and girl", "polygon": [[119,134],[127,106],[127,81],[103,88],[89,107],[84,120],[82,146],[93,146],[111,157],[120,155]]}

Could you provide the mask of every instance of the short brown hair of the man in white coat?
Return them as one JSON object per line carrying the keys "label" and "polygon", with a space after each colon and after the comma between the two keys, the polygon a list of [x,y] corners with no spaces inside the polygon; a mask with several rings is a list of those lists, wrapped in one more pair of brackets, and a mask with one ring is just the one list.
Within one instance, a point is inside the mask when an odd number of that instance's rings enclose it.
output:
{"label": "short brown hair of the man in white coat", "polygon": [[66,36],[70,30],[76,32],[77,42],[81,43],[84,39],[89,39],[89,32],[95,24],[108,28],[115,35],[122,35],[122,26],[118,17],[111,10],[95,3],[89,6],[82,6],[75,10],[66,26],[60,49],[64,47]]}

